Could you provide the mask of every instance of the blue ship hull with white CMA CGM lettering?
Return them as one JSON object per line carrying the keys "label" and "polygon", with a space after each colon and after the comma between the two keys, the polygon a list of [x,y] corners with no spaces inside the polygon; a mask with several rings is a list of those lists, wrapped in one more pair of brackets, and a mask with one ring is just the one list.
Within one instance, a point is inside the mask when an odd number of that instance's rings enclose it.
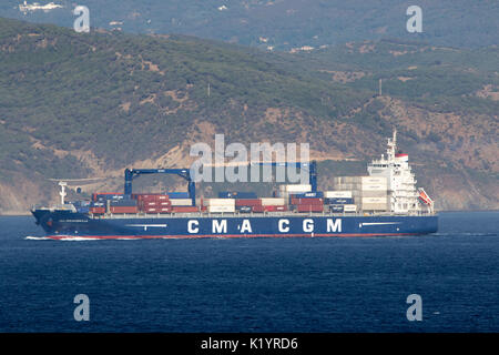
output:
{"label": "blue ship hull with white CMA CGM lettering", "polygon": [[71,211],[32,211],[37,224],[52,239],[182,239],[383,236],[429,234],[438,230],[437,215],[113,215],[92,217]]}

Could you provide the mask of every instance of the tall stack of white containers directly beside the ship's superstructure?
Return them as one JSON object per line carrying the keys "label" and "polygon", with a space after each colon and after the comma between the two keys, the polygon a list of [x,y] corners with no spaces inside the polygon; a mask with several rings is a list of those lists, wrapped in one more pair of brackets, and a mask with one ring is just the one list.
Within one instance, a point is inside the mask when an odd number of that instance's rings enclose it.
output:
{"label": "tall stack of white containers directly beside the ship's superstructure", "polygon": [[336,190],[352,191],[361,211],[389,210],[388,183],[385,176],[340,176],[334,179]]}

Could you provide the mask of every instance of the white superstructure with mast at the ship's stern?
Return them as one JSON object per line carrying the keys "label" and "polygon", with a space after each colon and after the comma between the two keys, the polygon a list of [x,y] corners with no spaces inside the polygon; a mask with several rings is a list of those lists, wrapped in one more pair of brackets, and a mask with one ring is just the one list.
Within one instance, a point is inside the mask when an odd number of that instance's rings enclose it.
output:
{"label": "white superstructure with mast at the ship's stern", "polygon": [[396,153],[397,131],[388,139],[387,156],[373,160],[367,166],[370,176],[384,176],[387,180],[388,210],[394,213],[432,213],[434,202],[422,189],[416,187],[416,178],[409,166],[408,154]]}

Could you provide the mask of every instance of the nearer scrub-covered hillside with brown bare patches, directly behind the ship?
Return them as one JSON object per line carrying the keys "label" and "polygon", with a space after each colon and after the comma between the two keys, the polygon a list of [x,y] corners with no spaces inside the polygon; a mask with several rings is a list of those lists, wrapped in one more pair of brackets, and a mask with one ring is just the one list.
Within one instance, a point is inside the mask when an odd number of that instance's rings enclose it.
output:
{"label": "nearer scrub-covered hillside with brown bare patches, directly behind the ship", "polygon": [[326,187],[363,172],[394,126],[439,209],[498,209],[497,58],[389,41],[269,53],[0,19],[0,212],[57,199],[49,178],[121,190],[125,166],[184,168],[215,133],[308,142]]}

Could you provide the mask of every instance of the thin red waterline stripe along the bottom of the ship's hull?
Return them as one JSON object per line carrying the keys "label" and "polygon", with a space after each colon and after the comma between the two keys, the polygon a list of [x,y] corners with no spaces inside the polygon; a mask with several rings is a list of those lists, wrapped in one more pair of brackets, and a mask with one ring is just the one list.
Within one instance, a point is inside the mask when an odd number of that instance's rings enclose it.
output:
{"label": "thin red waterline stripe along the bottom of the ship's hull", "polygon": [[[315,236],[329,236],[329,237],[354,237],[354,236],[399,236],[399,235],[417,235],[419,233],[314,233]],[[52,240],[67,240],[67,239],[99,239],[99,240],[152,240],[152,239],[204,239],[204,237],[313,237],[312,234],[179,234],[179,235],[48,235],[47,237]]]}

